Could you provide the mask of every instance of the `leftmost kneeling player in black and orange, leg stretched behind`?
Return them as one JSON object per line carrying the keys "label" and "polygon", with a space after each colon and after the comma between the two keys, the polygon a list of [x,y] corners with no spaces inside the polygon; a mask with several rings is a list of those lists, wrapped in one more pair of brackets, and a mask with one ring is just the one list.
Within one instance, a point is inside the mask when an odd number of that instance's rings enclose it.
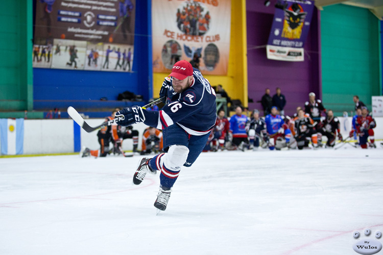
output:
{"label": "leftmost kneeling player in black and orange, leg stretched behind", "polygon": [[[106,117],[105,121],[114,119],[116,111],[112,113],[112,116]],[[99,138],[100,149],[90,150],[89,148],[85,148],[80,151],[80,155],[82,158],[88,156],[94,157],[106,157],[109,154],[109,144],[111,141],[118,140],[117,135],[117,124],[113,124],[110,126],[105,126],[97,133],[97,137]]]}

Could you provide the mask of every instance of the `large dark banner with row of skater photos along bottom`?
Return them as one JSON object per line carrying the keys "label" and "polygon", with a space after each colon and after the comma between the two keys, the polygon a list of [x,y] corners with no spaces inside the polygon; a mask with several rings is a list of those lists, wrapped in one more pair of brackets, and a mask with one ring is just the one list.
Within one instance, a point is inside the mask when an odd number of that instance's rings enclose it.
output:
{"label": "large dark banner with row of skater photos along bottom", "polygon": [[131,71],[136,0],[36,2],[33,67]]}

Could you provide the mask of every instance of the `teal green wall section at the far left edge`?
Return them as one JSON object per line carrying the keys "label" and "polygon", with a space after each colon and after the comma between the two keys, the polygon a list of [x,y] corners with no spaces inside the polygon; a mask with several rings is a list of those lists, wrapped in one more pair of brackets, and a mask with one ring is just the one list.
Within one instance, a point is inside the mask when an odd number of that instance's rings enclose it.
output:
{"label": "teal green wall section at the far left edge", "polygon": [[0,23],[0,111],[32,110],[32,1],[3,1]]}

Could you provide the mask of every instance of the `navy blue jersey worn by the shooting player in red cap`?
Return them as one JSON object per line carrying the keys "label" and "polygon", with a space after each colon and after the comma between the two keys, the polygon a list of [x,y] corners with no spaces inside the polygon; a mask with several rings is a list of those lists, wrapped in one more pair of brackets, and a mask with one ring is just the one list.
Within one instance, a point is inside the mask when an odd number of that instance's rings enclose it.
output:
{"label": "navy blue jersey worn by the shooting player in red cap", "polygon": [[143,123],[161,130],[177,123],[188,134],[197,136],[209,133],[216,124],[216,93],[196,68],[192,85],[181,93],[170,87],[166,103],[161,111],[143,110]]}

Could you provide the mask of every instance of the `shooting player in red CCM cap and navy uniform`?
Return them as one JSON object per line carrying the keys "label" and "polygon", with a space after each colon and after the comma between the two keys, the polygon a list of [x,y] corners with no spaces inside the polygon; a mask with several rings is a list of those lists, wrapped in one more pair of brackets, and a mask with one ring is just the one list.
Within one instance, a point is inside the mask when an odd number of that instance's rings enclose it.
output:
{"label": "shooting player in red CCM cap and navy uniform", "polygon": [[166,105],[160,111],[134,106],[116,114],[125,118],[118,124],[143,122],[163,132],[166,153],[152,159],[143,158],[133,176],[133,183],[138,185],[147,172],[160,171],[160,188],[154,206],[162,211],[166,209],[181,167],[192,166],[196,161],[217,118],[216,94],[198,69],[181,60],[174,64],[169,77],[160,90],[160,97],[166,98]]}

